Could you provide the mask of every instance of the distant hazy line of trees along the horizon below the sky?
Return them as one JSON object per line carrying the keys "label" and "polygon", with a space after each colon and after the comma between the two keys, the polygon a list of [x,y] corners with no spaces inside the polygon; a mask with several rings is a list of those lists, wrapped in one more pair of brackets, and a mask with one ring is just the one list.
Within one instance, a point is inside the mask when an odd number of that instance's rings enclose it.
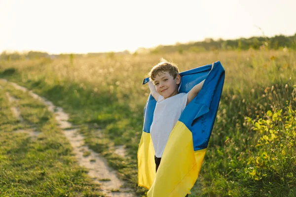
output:
{"label": "distant hazy line of trees along the horizon below the sky", "polygon": [[[296,50],[296,33],[291,36],[285,35],[275,35],[274,37],[250,37],[250,38],[239,38],[239,39],[218,39],[214,40],[212,38],[206,38],[204,41],[189,42],[189,43],[176,43],[175,45],[159,45],[155,48],[146,49],[139,48],[137,53],[172,53],[179,52],[183,53],[185,51],[190,52],[203,52],[203,51],[213,51],[213,50],[248,50],[253,48],[258,49],[292,49]],[[118,54],[127,54],[128,51],[118,52]],[[112,52],[112,54],[114,54]],[[117,54],[117,53],[116,53]],[[29,51],[26,53],[20,53],[17,51],[7,52],[3,51],[0,54],[0,60],[21,60],[21,59],[36,59],[36,58],[58,58],[58,57],[69,57],[73,54],[59,54],[59,55],[49,55],[46,52],[39,51]],[[75,56],[81,56],[85,54],[75,54]],[[106,53],[89,53],[89,56],[96,55],[110,55],[110,52]]]}

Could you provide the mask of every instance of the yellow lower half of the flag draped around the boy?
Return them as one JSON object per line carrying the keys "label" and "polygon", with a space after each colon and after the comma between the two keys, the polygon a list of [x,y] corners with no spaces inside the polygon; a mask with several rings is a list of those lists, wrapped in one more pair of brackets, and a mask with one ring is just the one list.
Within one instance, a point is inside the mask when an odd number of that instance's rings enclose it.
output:
{"label": "yellow lower half of the flag draped around the boy", "polygon": [[205,152],[206,149],[194,152],[191,131],[178,121],[155,175],[150,133],[143,132],[138,150],[139,186],[149,189],[148,197],[185,197],[198,177]]}

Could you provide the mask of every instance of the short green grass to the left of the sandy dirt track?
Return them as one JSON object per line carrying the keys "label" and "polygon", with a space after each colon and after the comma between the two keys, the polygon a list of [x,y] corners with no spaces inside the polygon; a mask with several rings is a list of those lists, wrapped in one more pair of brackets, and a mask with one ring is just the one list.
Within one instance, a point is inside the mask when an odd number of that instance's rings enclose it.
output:
{"label": "short green grass to the left of the sandy dirt track", "polygon": [[[28,94],[0,85],[0,196],[102,196],[100,187],[92,184],[87,171],[76,163],[53,114]],[[18,102],[10,104],[6,91]],[[20,108],[24,122],[14,117],[12,105]],[[40,132],[36,138],[16,132],[32,128]]]}

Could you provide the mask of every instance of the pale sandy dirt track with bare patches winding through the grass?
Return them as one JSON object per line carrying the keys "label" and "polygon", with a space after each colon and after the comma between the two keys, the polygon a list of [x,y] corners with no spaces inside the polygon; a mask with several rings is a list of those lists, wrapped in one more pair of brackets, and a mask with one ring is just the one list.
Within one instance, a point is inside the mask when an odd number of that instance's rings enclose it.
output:
{"label": "pale sandy dirt track with bare patches winding through the grass", "polygon": [[[100,157],[98,153],[95,153],[90,148],[88,148],[88,146],[84,145],[83,135],[79,134],[77,129],[71,129],[74,128],[74,126],[68,122],[69,115],[65,113],[61,107],[56,107],[52,102],[38,96],[32,91],[28,91],[26,88],[19,86],[16,83],[8,82],[5,79],[1,80],[11,84],[18,90],[28,92],[33,98],[43,102],[48,107],[48,110],[55,114],[60,128],[63,130],[65,136],[68,138],[74,149],[77,162],[89,170],[88,175],[93,179],[94,182],[101,185],[101,188],[107,197],[134,197],[133,193],[131,193],[131,189],[121,188],[123,182],[117,178],[116,172],[108,166],[106,160]],[[17,101],[15,98],[12,98],[8,92],[6,95],[10,102]],[[11,110],[14,112],[15,116],[20,121],[22,121],[18,108],[14,107]],[[37,134],[33,131],[30,131],[30,133]],[[124,155],[124,150],[122,147],[114,148],[119,153],[119,155]],[[90,154],[85,157],[83,156],[83,152],[89,152]]]}

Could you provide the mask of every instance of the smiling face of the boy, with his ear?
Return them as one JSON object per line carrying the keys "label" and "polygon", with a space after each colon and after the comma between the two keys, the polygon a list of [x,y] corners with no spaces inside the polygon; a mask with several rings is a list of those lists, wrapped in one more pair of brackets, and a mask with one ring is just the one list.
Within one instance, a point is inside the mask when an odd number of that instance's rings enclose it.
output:
{"label": "smiling face of the boy, with his ear", "polygon": [[156,74],[153,83],[158,94],[163,96],[164,99],[167,99],[178,94],[180,81],[181,77],[179,74],[174,79],[169,72],[159,72]]}

